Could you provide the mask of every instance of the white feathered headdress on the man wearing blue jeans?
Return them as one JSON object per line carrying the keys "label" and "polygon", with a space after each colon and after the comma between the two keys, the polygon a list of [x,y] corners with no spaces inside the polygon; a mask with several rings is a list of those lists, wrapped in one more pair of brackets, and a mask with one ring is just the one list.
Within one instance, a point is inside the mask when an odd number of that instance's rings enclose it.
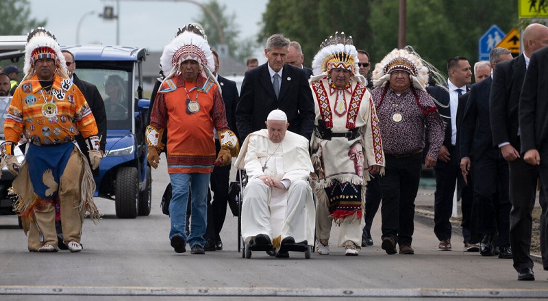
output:
{"label": "white feathered headdress on the man wearing blue jeans", "polygon": [[[197,23],[188,24],[179,28],[175,38],[164,47],[160,66],[166,76],[165,79],[179,73],[179,66],[186,60],[195,60],[200,65],[201,75],[206,79],[213,77],[212,70],[215,70],[213,53],[207,36],[203,33],[201,25]],[[165,80],[164,79],[164,80]]]}

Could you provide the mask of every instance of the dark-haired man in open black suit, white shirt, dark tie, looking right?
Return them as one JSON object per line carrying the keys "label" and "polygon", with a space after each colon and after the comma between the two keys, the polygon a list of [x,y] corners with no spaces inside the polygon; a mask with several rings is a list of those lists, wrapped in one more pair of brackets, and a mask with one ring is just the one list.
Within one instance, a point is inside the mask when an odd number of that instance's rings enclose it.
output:
{"label": "dark-haired man in open black suit, white shirt, dark tie, looking right", "polygon": [[[462,182],[460,157],[457,148],[457,109],[458,97],[470,89],[472,68],[466,57],[453,57],[447,62],[449,79],[444,86],[431,86],[427,91],[438,101],[438,112],[445,121],[445,137],[434,167],[436,174],[436,192],[434,193],[434,233],[440,240],[440,250],[451,250],[451,212],[453,194],[457,181]],[[462,202],[472,202],[462,200]],[[462,212],[463,220],[469,218],[469,212]],[[464,244],[471,239],[469,229],[462,228]]]}

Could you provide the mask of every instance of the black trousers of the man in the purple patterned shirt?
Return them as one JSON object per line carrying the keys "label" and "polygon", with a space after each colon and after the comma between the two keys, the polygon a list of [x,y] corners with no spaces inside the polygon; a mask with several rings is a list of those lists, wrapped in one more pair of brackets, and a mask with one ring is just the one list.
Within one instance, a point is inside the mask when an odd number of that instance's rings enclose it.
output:
{"label": "black trousers of the man in the purple patterned shirt", "polygon": [[379,178],[382,189],[382,238],[395,237],[400,246],[411,244],[423,154],[400,158],[391,155],[385,157],[385,173]]}

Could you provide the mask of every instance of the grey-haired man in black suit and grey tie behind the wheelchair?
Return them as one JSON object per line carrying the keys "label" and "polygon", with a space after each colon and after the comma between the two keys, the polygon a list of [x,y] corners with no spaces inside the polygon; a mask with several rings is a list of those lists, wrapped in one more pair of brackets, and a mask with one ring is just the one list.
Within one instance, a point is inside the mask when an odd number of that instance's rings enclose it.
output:
{"label": "grey-haired man in black suit and grey tie behind the wheelchair", "polygon": [[236,107],[236,125],[242,140],[249,133],[264,129],[264,120],[274,109],[286,113],[288,131],[308,140],[312,136],[315,117],[312,92],[304,71],[286,64],[289,43],[282,35],[271,36],[264,49],[268,62],[245,73]]}

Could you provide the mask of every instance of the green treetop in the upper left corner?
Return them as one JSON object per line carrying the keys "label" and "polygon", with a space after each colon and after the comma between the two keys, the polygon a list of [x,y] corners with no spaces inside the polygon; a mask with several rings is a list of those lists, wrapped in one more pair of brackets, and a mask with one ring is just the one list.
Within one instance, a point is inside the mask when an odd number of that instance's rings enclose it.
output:
{"label": "green treetop in the upper left corner", "polygon": [[46,21],[29,18],[30,5],[28,0],[0,1],[0,35],[19,36],[27,34],[31,29],[45,26]]}

